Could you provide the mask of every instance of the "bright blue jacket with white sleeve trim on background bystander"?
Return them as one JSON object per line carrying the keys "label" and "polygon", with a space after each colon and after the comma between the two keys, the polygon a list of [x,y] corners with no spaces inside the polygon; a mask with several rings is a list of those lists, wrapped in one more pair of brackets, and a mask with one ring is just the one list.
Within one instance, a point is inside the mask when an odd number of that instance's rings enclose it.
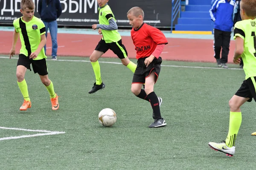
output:
{"label": "bright blue jacket with white sleeve trim on background bystander", "polygon": [[233,27],[234,0],[215,0],[209,10],[211,19],[214,21],[214,28],[221,31],[231,31]]}

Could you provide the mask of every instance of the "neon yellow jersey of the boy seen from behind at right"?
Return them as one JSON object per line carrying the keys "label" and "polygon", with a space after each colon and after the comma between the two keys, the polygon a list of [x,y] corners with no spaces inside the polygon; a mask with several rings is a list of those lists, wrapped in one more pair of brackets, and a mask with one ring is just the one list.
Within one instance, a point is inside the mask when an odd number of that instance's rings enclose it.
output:
{"label": "neon yellow jersey of the boy seen from behind at right", "polygon": [[256,77],[256,19],[242,20],[235,24],[234,39],[244,40],[244,52],[241,55],[244,62],[245,79]]}

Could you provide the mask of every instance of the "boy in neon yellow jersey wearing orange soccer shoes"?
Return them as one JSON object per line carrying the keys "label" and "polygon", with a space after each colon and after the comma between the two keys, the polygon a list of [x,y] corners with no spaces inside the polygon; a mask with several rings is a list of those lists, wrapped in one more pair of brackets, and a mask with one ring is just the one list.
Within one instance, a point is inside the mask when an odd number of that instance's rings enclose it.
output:
{"label": "boy in neon yellow jersey wearing orange soccer shoes", "polygon": [[32,64],[34,73],[39,74],[41,82],[50,94],[52,110],[57,110],[59,108],[58,96],[55,94],[53,84],[48,78],[47,57],[43,49],[46,44],[44,23],[34,16],[35,3],[32,0],[22,0],[20,7],[20,12],[23,16],[13,21],[15,30],[10,51],[11,58],[15,54],[15,46],[20,34],[21,48],[16,71],[17,83],[24,98],[20,111],[26,111],[27,108],[31,108],[28,87],[24,79],[26,70],[29,69],[31,71],[30,64]]}

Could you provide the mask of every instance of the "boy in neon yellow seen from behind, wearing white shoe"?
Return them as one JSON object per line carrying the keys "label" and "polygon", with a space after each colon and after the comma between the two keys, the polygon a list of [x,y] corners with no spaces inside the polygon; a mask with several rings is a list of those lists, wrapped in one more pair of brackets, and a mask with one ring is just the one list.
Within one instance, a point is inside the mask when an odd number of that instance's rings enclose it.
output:
{"label": "boy in neon yellow seen from behind, wearing white shoe", "polygon": [[241,105],[245,102],[256,101],[256,0],[241,0],[240,14],[242,21],[235,24],[234,39],[236,50],[233,62],[244,61],[245,80],[236,94],[230,99],[230,123],[227,139],[215,143],[209,142],[214,150],[233,156],[235,153],[236,136],[242,121]]}

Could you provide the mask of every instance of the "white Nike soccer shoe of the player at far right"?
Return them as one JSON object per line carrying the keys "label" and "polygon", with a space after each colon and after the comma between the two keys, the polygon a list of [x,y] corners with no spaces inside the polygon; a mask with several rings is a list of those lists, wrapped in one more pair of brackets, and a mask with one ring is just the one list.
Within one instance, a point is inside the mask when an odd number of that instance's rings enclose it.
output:
{"label": "white Nike soccer shoe of the player at far right", "polygon": [[235,154],[235,146],[228,147],[225,141],[221,141],[219,143],[209,142],[209,146],[216,151],[221,151],[226,153],[227,156],[233,156]]}

